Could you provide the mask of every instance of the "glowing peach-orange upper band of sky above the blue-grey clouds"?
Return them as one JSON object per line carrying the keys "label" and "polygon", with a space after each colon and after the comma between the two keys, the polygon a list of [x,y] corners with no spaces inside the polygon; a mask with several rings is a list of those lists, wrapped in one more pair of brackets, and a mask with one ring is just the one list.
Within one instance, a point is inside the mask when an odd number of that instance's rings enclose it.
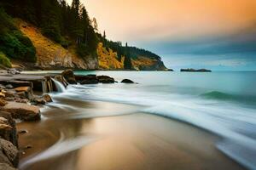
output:
{"label": "glowing peach-orange upper band of sky above the blue-grey clouds", "polygon": [[233,34],[256,24],[255,0],[82,0],[114,40]]}

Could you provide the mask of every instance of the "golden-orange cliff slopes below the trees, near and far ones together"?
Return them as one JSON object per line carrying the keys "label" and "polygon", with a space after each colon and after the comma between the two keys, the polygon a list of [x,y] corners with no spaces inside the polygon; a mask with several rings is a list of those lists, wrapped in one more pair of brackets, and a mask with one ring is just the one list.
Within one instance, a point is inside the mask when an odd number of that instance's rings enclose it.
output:
{"label": "golden-orange cliff slopes below the trees, near and far ones together", "polygon": [[[76,54],[74,47],[69,47],[68,49],[61,47],[60,44],[44,37],[37,27],[27,24],[22,20],[19,20],[17,25],[20,31],[31,39],[36,48],[38,61],[33,65],[36,68],[42,70],[67,68],[79,70],[124,70],[125,56],[119,60],[117,53],[110,48],[104,48],[101,42],[97,48],[97,58],[90,56],[81,58]],[[132,58],[131,64],[132,69],[137,71],[167,70],[160,59],[149,58],[147,56]]]}

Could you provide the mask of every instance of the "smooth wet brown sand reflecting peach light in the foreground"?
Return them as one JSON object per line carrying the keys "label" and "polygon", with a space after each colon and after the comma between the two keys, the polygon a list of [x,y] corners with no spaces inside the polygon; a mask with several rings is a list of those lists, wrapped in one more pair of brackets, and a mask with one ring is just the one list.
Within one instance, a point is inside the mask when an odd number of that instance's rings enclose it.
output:
{"label": "smooth wet brown sand reflecting peach light in the foreground", "polygon": [[[134,111],[108,102],[75,103],[96,115]],[[32,145],[21,157],[20,169],[243,169],[215,148],[218,137],[182,122],[137,112],[95,118],[73,115],[72,110],[55,109],[44,113],[42,122],[18,124],[29,132],[20,135],[20,148]]]}

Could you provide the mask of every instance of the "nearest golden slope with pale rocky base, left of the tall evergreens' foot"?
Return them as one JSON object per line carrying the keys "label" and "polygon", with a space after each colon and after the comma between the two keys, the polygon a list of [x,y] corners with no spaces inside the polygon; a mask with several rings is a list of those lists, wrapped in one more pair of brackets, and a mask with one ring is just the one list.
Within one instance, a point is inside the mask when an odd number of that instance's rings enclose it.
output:
{"label": "nearest golden slope with pale rocky base, left of the tall evergreens' foot", "polygon": [[83,69],[96,70],[98,69],[98,61],[94,57],[86,57],[82,59],[75,50],[71,47],[68,50],[62,48],[60,44],[51,41],[44,37],[38,28],[27,24],[24,21],[18,23],[20,31],[29,37],[37,50],[38,61],[36,67],[43,70],[49,69]]}

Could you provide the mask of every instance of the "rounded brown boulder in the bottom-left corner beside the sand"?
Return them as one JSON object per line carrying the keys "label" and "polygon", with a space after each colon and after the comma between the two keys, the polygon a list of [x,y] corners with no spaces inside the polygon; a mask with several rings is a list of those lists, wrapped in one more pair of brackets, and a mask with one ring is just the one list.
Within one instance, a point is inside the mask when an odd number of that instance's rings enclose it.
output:
{"label": "rounded brown boulder in the bottom-left corner beside the sand", "polygon": [[19,151],[11,142],[0,139],[0,162],[17,167],[19,161]]}

